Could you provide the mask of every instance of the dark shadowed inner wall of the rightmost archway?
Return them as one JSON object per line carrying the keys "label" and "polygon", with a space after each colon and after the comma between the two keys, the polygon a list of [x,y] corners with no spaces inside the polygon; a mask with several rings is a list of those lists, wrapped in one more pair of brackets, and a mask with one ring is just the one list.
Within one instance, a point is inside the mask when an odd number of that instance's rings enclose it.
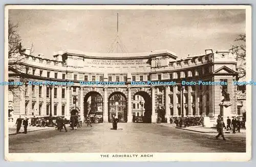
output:
{"label": "dark shadowed inner wall of the rightmost archway", "polygon": [[142,114],[143,123],[151,123],[151,116],[152,116],[152,100],[150,94],[145,91],[138,91],[133,95],[133,99],[136,95],[141,96],[144,99],[144,109],[145,112]]}

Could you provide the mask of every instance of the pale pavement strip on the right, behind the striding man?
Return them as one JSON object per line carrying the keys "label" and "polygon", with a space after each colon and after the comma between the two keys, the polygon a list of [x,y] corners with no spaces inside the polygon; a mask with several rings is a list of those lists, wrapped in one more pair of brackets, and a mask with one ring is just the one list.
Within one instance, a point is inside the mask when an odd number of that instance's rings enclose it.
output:
{"label": "pale pavement strip on the right, behind the striding man", "polygon": [[[216,133],[217,129],[216,128],[206,128],[203,126],[191,126],[191,127],[186,127],[186,128],[180,128],[180,127],[176,127],[176,124],[158,124],[159,126],[166,126],[166,127],[173,127],[173,128],[177,128],[177,129],[182,129],[182,130],[188,130],[188,131],[194,131],[194,132],[200,132],[200,133]],[[223,129],[224,133],[232,133],[232,130],[226,130]],[[245,129],[240,129],[240,133],[245,133],[246,130]],[[239,132],[236,132],[239,133]]]}

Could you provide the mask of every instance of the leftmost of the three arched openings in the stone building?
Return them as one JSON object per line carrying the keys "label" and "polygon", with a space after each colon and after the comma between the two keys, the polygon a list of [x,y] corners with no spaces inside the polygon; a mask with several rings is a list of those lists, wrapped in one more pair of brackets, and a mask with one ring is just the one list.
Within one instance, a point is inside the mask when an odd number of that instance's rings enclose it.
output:
{"label": "leftmost of the three arched openings in the stone building", "polygon": [[83,100],[83,106],[84,120],[88,114],[91,117],[92,122],[96,120],[98,123],[103,122],[103,98],[100,93],[96,91],[87,93]]}

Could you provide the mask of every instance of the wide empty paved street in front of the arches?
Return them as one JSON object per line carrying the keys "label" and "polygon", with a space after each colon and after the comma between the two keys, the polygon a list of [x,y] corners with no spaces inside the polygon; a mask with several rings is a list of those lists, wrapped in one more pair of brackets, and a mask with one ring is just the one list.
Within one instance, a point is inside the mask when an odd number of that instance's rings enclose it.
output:
{"label": "wide empty paved street in front of the arches", "polygon": [[9,136],[10,153],[59,152],[245,152],[245,133],[198,133],[161,124],[93,124],[59,132],[53,129]]}

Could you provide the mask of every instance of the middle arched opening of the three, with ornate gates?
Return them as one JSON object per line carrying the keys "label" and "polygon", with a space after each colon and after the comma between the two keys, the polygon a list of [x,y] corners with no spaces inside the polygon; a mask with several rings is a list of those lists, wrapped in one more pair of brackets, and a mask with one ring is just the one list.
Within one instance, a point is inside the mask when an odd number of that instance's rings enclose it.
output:
{"label": "middle arched opening of the three, with ornate gates", "polygon": [[118,116],[119,122],[127,122],[127,98],[122,92],[113,92],[109,97],[109,122],[114,115]]}

